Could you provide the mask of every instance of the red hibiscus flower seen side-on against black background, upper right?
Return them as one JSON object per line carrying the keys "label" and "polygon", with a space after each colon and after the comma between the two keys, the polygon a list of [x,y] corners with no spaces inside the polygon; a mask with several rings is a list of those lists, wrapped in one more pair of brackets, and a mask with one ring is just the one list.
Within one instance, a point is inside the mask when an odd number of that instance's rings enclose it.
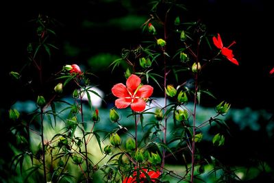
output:
{"label": "red hibiscus flower seen side-on against black background, upper right", "polygon": [[231,45],[229,45],[228,47],[223,47],[223,42],[221,40],[221,36],[220,34],[218,34],[218,37],[213,37],[213,43],[214,45],[221,49],[221,53],[223,56],[225,56],[230,62],[239,65],[238,61],[234,58],[234,55],[232,53],[232,49],[229,49],[229,47],[231,47],[232,45],[234,45],[236,42],[232,42]]}

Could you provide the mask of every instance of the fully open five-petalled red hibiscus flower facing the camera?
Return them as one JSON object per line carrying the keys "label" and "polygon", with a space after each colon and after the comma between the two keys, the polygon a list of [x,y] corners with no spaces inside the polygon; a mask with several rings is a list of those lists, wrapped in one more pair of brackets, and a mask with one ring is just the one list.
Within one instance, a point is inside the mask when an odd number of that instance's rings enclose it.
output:
{"label": "fully open five-petalled red hibiscus flower facing the camera", "polygon": [[130,106],[136,112],[145,110],[145,99],[152,95],[153,87],[150,85],[141,86],[140,83],[140,77],[132,74],[128,77],[126,86],[119,83],[112,87],[112,94],[119,98],[115,101],[116,108],[127,108]]}

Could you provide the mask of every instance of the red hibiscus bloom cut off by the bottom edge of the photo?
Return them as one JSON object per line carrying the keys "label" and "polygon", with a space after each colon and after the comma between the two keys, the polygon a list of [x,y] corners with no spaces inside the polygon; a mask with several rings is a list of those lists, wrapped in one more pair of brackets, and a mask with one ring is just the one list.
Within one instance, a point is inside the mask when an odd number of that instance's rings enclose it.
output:
{"label": "red hibiscus bloom cut off by the bottom edge of the photo", "polygon": [[[145,173],[144,173],[145,172]],[[123,180],[123,183],[134,183],[136,182],[136,172],[134,172],[134,177],[128,177],[125,178]],[[147,169],[142,169],[142,171],[140,171],[140,175],[139,175],[139,180],[140,183],[145,183],[145,181],[147,180],[146,174],[149,175],[149,178],[151,180],[151,182],[155,182],[155,179],[159,178],[160,176],[160,171],[147,171]]]}

